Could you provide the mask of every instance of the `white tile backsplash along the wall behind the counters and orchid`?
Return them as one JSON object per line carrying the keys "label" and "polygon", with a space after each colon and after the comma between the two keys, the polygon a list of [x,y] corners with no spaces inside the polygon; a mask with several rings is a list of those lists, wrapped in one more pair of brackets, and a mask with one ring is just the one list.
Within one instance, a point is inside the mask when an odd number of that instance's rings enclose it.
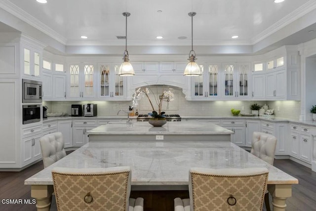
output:
{"label": "white tile backsplash along the wall behind the counters and orchid", "polygon": [[[153,89],[152,92],[162,93],[163,87]],[[300,116],[300,101],[188,101],[181,89],[173,89],[175,99],[173,101],[162,102],[162,110],[167,114],[179,114],[180,116],[229,116],[232,115],[231,109],[238,109],[241,113],[251,113],[249,107],[253,103],[260,106],[267,104],[269,109],[275,110],[276,117],[290,118],[298,120]],[[157,96],[157,95],[156,95]],[[158,106],[150,96],[155,109]],[[115,116],[118,111],[127,110],[132,106],[132,101],[45,101],[44,105],[48,107],[47,113],[64,112],[71,114],[72,104],[98,104],[98,116]],[[244,110],[242,110],[242,107]],[[136,107],[139,114],[152,112],[149,101],[146,97],[142,98]],[[136,110],[134,109],[134,110]],[[125,115],[120,113],[119,115]]]}

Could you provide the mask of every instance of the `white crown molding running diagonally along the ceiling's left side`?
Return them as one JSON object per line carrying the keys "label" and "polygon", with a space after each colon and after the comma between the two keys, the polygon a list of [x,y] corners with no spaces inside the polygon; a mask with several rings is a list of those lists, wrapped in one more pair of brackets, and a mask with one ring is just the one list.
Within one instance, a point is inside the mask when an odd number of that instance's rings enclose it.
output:
{"label": "white crown molding running diagonally along the ceiling's left side", "polygon": [[29,13],[25,12],[20,7],[17,7],[15,4],[8,0],[2,0],[0,1],[0,7],[4,9],[5,11],[9,12],[10,14],[16,16],[17,18],[21,19],[22,21],[26,22],[27,24],[30,24],[34,28],[40,30],[44,34],[50,36],[51,38],[55,39],[56,41],[66,44],[67,39],[63,36],[61,36],[56,31],[49,28],[47,25],[40,22],[38,19],[30,15]]}

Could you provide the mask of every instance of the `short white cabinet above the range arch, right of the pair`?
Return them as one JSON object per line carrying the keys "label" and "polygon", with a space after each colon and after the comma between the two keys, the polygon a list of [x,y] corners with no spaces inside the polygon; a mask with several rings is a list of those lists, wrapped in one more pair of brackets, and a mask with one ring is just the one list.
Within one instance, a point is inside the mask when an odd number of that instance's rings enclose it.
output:
{"label": "short white cabinet above the range arch, right of the pair", "polygon": [[163,75],[183,75],[187,64],[181,61],[160,61],[159,72]]}

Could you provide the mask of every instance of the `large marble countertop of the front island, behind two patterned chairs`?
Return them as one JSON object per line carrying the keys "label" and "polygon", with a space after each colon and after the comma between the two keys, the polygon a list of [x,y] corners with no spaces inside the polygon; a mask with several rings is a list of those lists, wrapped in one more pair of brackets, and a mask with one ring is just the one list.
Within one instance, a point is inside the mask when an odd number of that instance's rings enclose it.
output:
{"label": "large marble countertop of the front island, behind two patterned chairs", "polygon": [[268,184],[297,184],[298,180],[253,156],[230,141],[104,141],[89,142],[25,180],[26,185],[52,185],[51,170],[130,166],[132,186],[187,186],[189,169],[269,169]]}

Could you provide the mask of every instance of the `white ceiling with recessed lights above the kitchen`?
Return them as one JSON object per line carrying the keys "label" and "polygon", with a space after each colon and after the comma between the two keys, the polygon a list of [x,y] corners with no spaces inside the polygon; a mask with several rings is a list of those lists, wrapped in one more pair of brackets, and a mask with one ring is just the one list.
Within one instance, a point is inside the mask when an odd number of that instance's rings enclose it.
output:
{"label": "white ceiling with recessed lights above the kitchen", "polygon": [[[0,0],[0,8],[65,46],[191,45],[191,17],[195,46],[252,46],[253,52],[277,43],[298,44],[316,38],[315,0]],[[158,12],[162,10],[162,12]],[[1,12],[1,11],[0,11]],[[312,18],[311,18],[312,17]],[[0,16],[0,32],[28,27]],[[315,20],[314,20],[315,19]],[[13,22],[13,23],[12,23]],[[308,31],[315,30],[314,33]],[[81,35],[88,37],[80,39]],[[156,36],[163,36],[157,40]],[[233,35],[239,38],[232,39]],[[187,37],[180,40],[178,37]],[[51,44],[53,45],[53,44]],[[262,46],[261,46],[262,45]],[[51,46],[54,47],[54,46]]]}

